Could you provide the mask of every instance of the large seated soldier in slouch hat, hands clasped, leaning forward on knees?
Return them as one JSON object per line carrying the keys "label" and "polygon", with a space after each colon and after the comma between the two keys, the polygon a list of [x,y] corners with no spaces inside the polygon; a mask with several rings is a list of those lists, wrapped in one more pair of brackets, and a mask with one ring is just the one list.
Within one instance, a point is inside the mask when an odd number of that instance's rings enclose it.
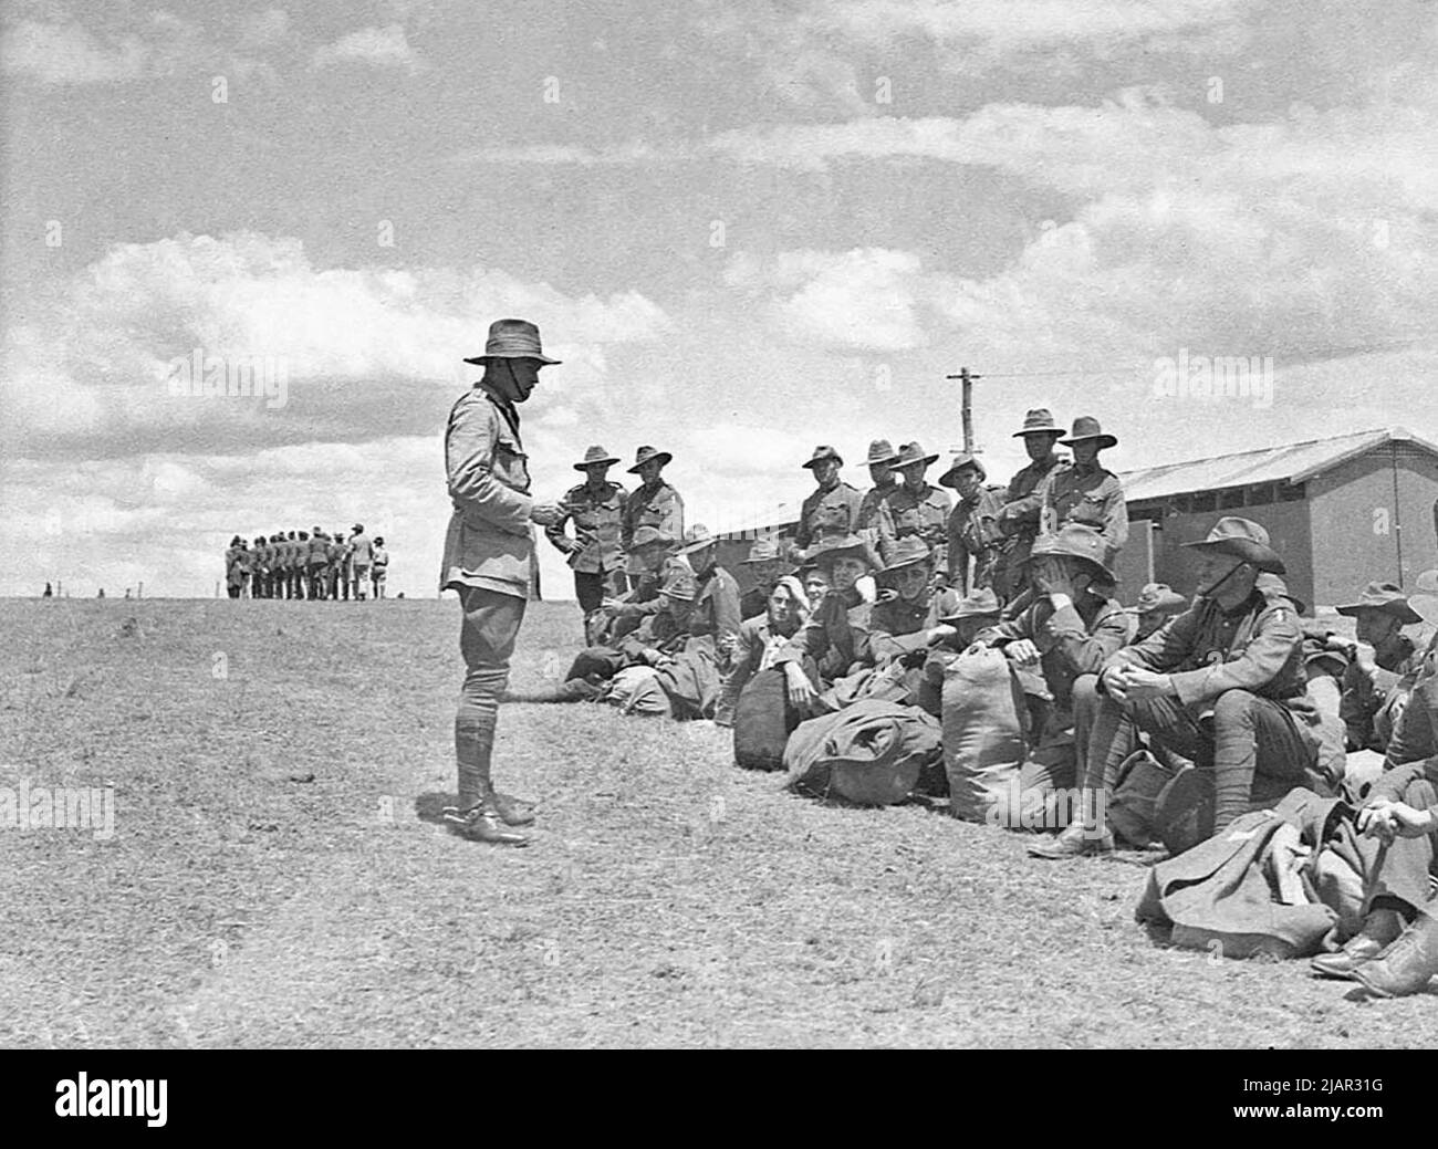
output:
{"label": "large seated soldier in slouch hat, hands clasped, leaning forward on knees", "polygon": [[1103,673],[1074,683],[1076,723],[1090,731],[1081,781],[1083,818],[1030,847],[1070,859],[1113,848],[1107,800],[1137,732],[1192,759],[1214,791],[1212,833],[1250,802],[1270,804],[1299,785],[1327,792],[1313,766],[1319,715],[1306,695],[1293,607],[1255,585],[1283,574],[1255,522],[1221,518],[1201,542],[1198,597],[1156,634],[1109,657]]}

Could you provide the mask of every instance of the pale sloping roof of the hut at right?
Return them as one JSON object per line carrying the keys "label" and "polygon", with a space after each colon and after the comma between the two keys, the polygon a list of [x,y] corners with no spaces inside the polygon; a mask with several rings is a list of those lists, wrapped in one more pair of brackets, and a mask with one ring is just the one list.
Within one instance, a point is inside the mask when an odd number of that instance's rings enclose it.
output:
{"label": "pale sloping roof of the hut at right", "polygon": [[1186,463],[1126,470],[1119,477],[1123,479],[1123,496],[1130,503],[1248,483],[1301,483],[1389,440],[1415,443],[1438,456],[1438,447],[1432,443],[1409,434],[1402,427],[1389,427],[1313,439],[1283,447],[1221,454],[1217,459],[1194,459]]}

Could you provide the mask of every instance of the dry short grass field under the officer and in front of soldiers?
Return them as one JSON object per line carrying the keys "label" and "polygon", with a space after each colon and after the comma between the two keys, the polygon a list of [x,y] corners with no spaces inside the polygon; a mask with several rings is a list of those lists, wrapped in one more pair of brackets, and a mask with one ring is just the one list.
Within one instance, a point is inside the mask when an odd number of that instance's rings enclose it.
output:
{"label": "dry short grass field under the officer and in front of soldiers", "polygon": [[[791,797],[712,726],[508,706],[533,844],[452,837],[457,613],[0,603],[0,787],[115,797],[108,840],[0,828],[0,1044],[1434,1044],[1432,994],[1155,945],[1145,859]],[[535,605],[515,680],[577,636]]]}

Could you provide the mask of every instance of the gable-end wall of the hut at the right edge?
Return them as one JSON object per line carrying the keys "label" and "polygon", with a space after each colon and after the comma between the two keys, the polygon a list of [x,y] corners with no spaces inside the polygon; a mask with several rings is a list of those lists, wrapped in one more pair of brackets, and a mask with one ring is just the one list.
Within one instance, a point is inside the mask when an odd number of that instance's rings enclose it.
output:
{"label": "gable-end wall of the hut at the right edge", "polygon": [[1309,502],[1317,603],[1350,601],[1375,580],[1412,587],[1438,567],[1438,457],[1428,450],[1383,443],[1311,479]]}

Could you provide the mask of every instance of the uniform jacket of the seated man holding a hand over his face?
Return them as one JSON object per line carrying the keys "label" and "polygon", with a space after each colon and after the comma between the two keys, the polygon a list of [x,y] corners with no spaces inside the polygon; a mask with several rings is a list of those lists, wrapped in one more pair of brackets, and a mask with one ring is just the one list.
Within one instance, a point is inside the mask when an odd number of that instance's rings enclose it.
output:
{"label": "uniform jacket of the seated man holding a hand over his face", "polygon": [[1129,615],[1114,600],[1087,591],[1057,610],[1045,594],[1034,597],[1008,621],[981,630],[975,641],[1001,647],[1015,638],[1028,638],[1038,647],[1044,685],[1054,702],[1070,712],[1074,680],[1097,674],[1129,641]]}

